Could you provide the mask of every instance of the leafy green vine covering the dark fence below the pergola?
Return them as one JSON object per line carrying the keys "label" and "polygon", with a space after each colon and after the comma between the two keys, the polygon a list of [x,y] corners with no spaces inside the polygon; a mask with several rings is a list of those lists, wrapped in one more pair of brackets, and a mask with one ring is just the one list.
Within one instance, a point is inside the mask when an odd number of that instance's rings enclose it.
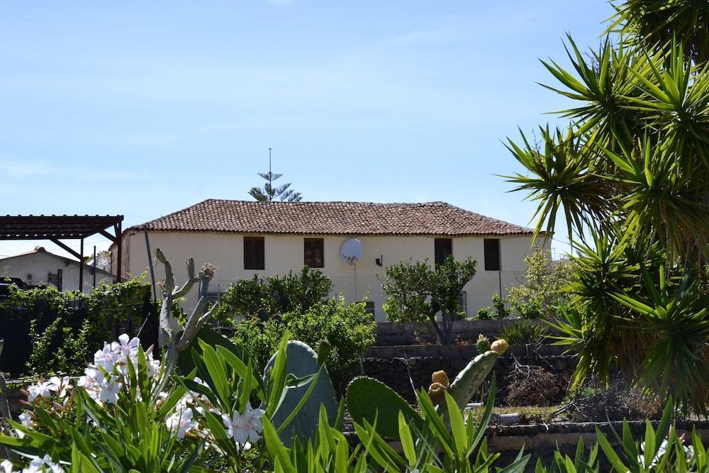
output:
{"label": "leafy green vine covering the dark fence below the pergola", "polygon": [[116,328],[137,332],[156,310],[143,278],[102,283],[91,294],[10,285],[0,300],[5,330],[15,332],[4,335],[4,367],[13,375],[81,372]]}

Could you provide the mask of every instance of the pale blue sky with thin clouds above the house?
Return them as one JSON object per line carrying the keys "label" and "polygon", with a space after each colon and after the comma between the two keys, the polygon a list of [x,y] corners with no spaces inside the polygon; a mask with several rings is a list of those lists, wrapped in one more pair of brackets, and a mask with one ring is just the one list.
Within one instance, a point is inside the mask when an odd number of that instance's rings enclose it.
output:
{"label": "pale blue sky with thin clouds above the house", "polygon": [[611,13],[603,0],[4,2],[2,213],[129,226],[250,199],[272,147],[306,200],[447,201],[527,225],[535,206],[493,175],[521,171],[501,141],[568,105],[535,83],[552,83],[538,58],[566,63],[567,31],[597,45]]}

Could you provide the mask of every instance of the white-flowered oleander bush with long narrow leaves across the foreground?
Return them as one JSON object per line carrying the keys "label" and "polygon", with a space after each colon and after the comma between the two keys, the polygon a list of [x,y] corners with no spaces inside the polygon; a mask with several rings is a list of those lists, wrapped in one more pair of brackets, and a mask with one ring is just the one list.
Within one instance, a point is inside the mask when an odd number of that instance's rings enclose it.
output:
{"label": "white-flowered oleander bush with long narrow leaves across the foreground", "polygon": [[[151,349],[143,350],[140,340],[121,335],[96,351],[78,379],[51,377],[27,386],[27,410],[18,421],[5,419],[9,428],[3,428],[0,444],[9,449],[9,459],[0,462],[0,471],[521,473],[529,461],[520,451],[510,464],[500,464],[500,455],[487,450],[494,378],[484,408],[475,413],[461,410],[472,391],[449,384],[442,372],[434,375],[428,393],[417,392],[417,410],[395,408],[390,398],[396,394],[386,388],[358,391],[371,399],[348,394],[348,405],[357,401],[373,413],[354,422],[355,446],[342,433],[344,402],[330,415],[325,404],[334,399],[318,397],[321,392],[316,396],[318,383],[327,379],[325,367],[317,368],[324,358],[319,353],[314,372],[294,376],[291,368],[304,360],[289,361],[302,350],[289,351],[286,335],[262,379],[246,350],[200,345],[201,351],[191,352],[196,368],[181,377],[156,360]],[[501,353],[504,347],[498,341],[492,348]],[[479,375],[491,371],[499,353],[479,355],[460,379],[479,386],[484,380]],[[376,387],[372,379],[359,383]],[[315,415],[301,416],[311,396],[323,404]],[[591,450],[581,439],[574,458],[555,452],[552,464],[537,462],[535,471],[708,472],[699,436],[686,438],[672,425],[673,404],[669,399],[657,428],[647,423],[642,438],[632,438],[624,425],[615,433],[620,447],[613,447],[597,429],[598,444]],[[377,406],[387,409],[381,418]],[[279,411],[286,415],[279,417]],[[378,418],[388,424],[379,425]],[[298,430],[301,421],[313,429]],[[291,423],[298,428],[286,441]],[[392,435],[401,443],[400,452],[386,442]]]}

